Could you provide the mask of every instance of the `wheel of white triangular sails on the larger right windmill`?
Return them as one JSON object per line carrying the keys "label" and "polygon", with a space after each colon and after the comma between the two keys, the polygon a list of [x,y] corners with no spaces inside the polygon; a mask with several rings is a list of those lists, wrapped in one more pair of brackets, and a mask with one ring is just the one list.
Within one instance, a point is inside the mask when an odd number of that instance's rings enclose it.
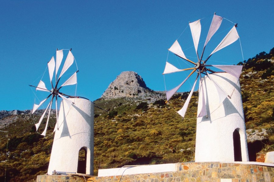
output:
{"label": "wheel of white triangular sails on the larger right windmill", "polygon": [[[198,54],[198,44],[199,44],[199,39],[200,39],[200,34],[201,34],[201,23],[200,20],[197,20],[195,22],[189,23],[189,27],[191,30],[191,35],[193,38],[193,42],[194,42],[194,47],[195,47],[195,52],[198,58],[198,62],[193,62],[190,59],[188,59],[185,55],[184,52],[181,49],[181,46],[178,42],[178,40],[176,40],[173,45],[168,49],[170,52],[174,53],[176,56],[178,56],[181,59],[186,60],[187,62],[189,62],[193,67],[191,68],[186,68],[186,69],[178,69],[177,67],[173,66],[172,64],[170,64],[169,62],[166,62],[166,66],[163,72],[164,74],[168,74],[168,73],[174,73],[174,72],[181,72],[181,71],[187,71],[187,70],[192,70],[191,73],[184,79],[184,81],[182,83],[180,83],[178,86],[176,86],[175,88],[169,90],[166,92],[166,96],[167,96],[167,101],[177,92],[177,90],[186,82],[187,79],[189,79],[189,77],[191,75],[193,75],[195,72],[196,74],[196,79],[194,82],[194,85],[192,86],[191,92],[189,93],[189,96],[186,100],[186,102],[184,103],[184,106],[182,107],[181,110],[179,110],[177,113],[179,113],[182,117],[185,116],[188,104],[190,102],[190,98],[192,96],[192,93],[194,91],[195,85],[197,83],[197,80],[200,78],[200,83],[202,83],[202,75],[206,75],[209,78],[211,78],[210,74],[214,73],[215,71],[213,71],[212,69],[208,68],[208,67],[216,67],[218,69],[221,69],[233,76],[235,76],[236,78],[239,78],[239,76],[241,75],[241,70],[242,70],[242,66],[237,66],[237,65],[207,65],[206,62],[209,60],[209,58],[217,51],[223,49],[224,47],[232,44],[233,42],[235,42],[237,39],[239,39],[239,35],[237,33],[236,27],[237,24],[233,25],[232,28],[230,29],[230,31],[227,33],[227,35],[223,38],[223,40],[219,43],[219,45],[211,52],[211,54],[206,58],[203,59],[203,55],[204,55],[204,51],[206,48],[207,43],[209,42],[209,40],[211,39],[211,37],[215,34],[215,32],[219,29],[221,23],[222,23],[223,18],[214,14],[213,15],[213,19],[209,28],[209,32],[207,34],[206,37],[206,41],[202,50],[202,54],[201,56],[199,56]],[[226,93],[226,91],[221,88],[219,86],[219,84],[217,84],[216,82],[214,82],[214,79],[211,79],[214,83],[214,86],[216,87],[216,89],[218,90],[219,93],[219,102],[222,103],[223,100],[229,95]],[[204,88],[203,86],[201,86],[201,94],[202,96],[204,96]],[[201,109],[198,111],[198,115],[197,117],[202,117],[202,116],[206,116],[207,115],[207,111],[206,111],[206,106],[204,105],[204,99],[203,99],[203,106],[201,107]]]}

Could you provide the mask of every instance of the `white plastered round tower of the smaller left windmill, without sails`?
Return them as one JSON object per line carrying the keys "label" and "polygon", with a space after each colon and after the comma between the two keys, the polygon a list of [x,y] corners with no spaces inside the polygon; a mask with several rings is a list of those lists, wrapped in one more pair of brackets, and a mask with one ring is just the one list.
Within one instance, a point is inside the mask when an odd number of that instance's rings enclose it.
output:
{"label": "white plastered round tower of the smaller left windmill, without sails", "polygon": [[93,175],[94,106],[87,99],[70,98],[70,107],[61,103],[55,131],[48,174],[53,170],[77,173],[78,154],[87,148],[86,174]]}

